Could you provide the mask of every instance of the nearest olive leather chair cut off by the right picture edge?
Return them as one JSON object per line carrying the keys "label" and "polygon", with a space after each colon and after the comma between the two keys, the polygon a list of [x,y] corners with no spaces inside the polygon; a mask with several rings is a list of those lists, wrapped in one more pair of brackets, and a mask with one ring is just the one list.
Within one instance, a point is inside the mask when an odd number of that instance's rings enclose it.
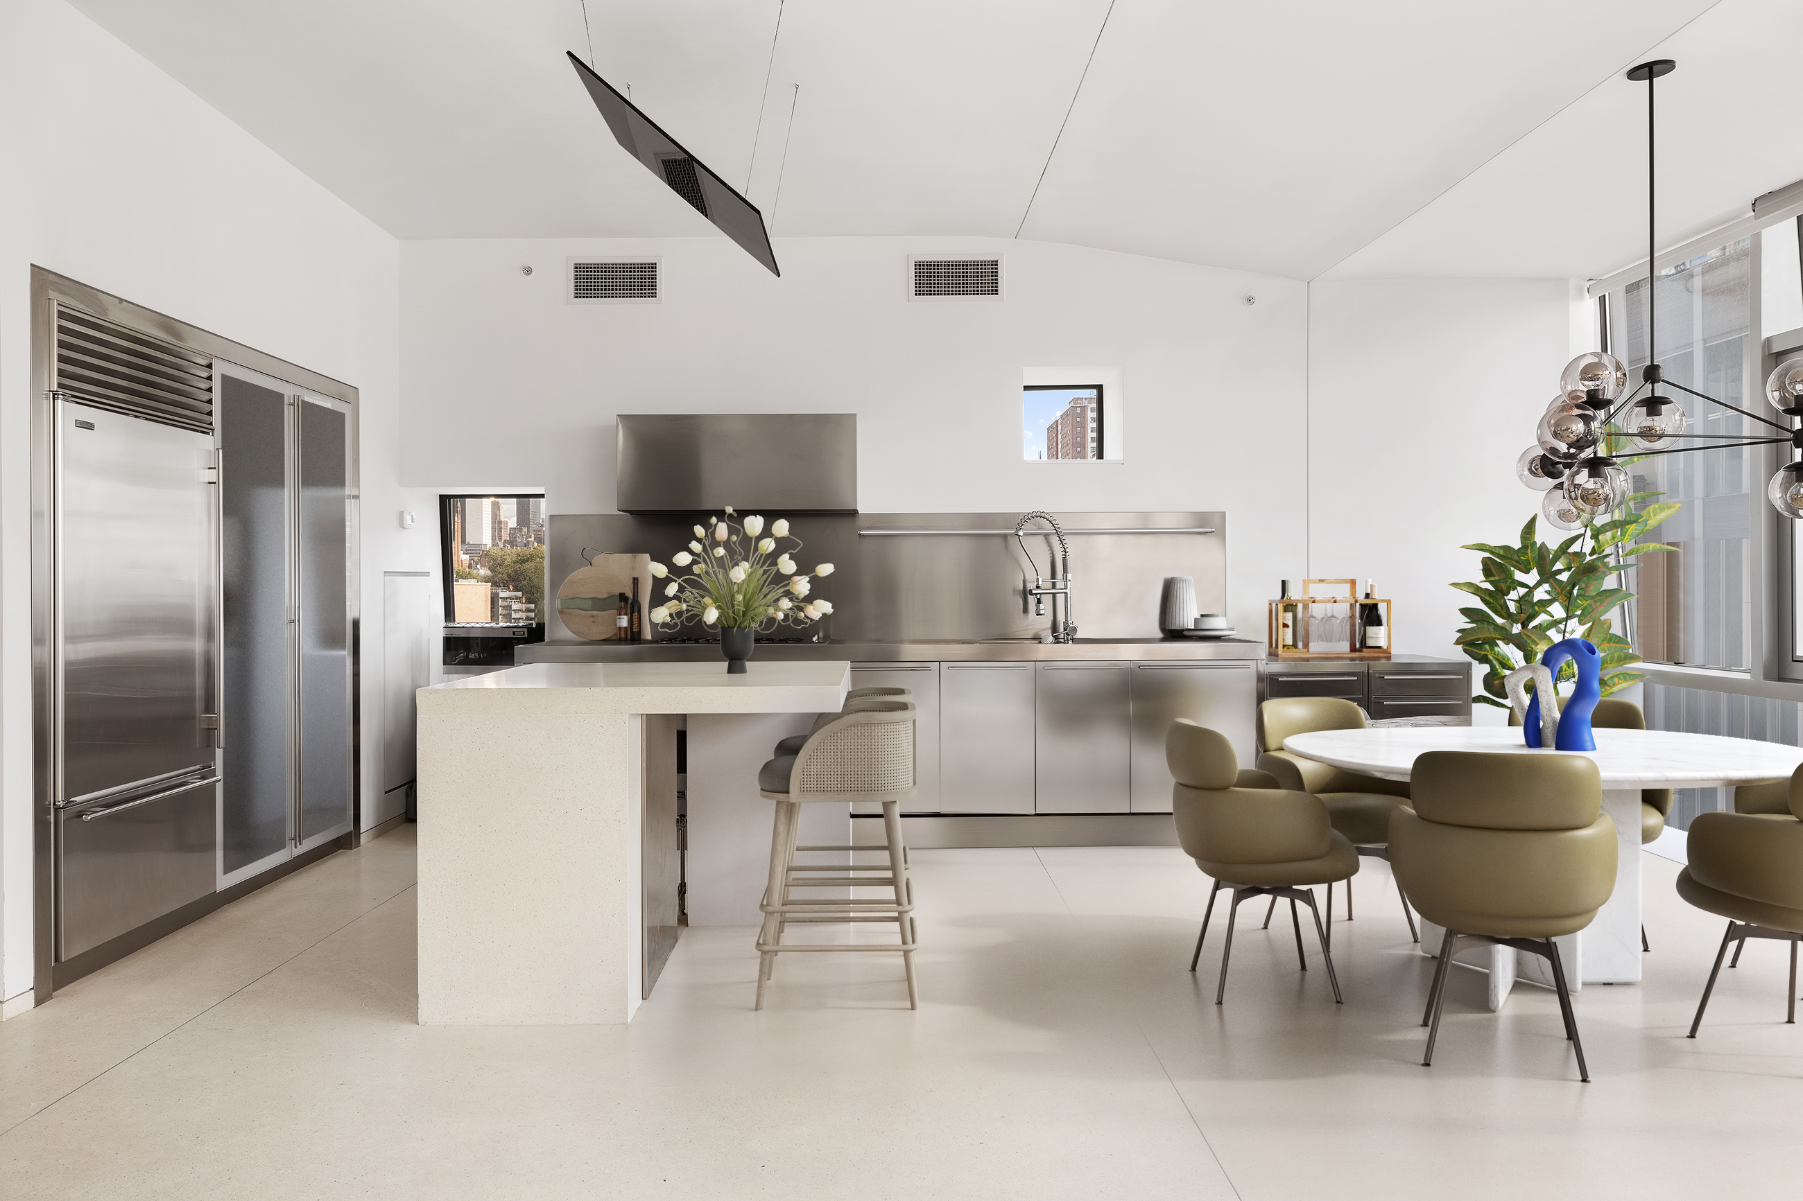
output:
{"label": "nearest olive leather chair cut off by the right picture edge", "polygon": [[[1783,814],[1702,814],[1689,828],[1689,864],[1679,871],[1679,897],[1704,913],[1727,918],[1722,949],[1715,953],[1689,1037],[1715,992],[1727,944],[1734,963],[1749,938],[1790,944],[1790,992],[1785,1021],[1798,1019],[1798,942],[1803,938],[1803,767],[1789,783]],[[1742,792],[1745,789],[1736,789]],[[1736,808],[1738,808],[1736,796]]]}

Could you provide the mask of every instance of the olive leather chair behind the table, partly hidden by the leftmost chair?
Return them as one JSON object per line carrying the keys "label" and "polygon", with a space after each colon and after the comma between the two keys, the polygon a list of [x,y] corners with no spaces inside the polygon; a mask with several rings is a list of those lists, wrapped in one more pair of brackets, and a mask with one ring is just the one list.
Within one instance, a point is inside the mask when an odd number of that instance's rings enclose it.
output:
{"label": "olive leather chair behind the table, partly hidden by the leftmost chair", "polygon": [[[1291,751],[1284,751],[1284,738],[1307,735],[1316,729],[1365,729],[1365,709],[1350,700],[1334,697],[1282,697],[1258,706],[1258,771],[1268,772],[1280,789],[1313,792],[1327,805],[1327,816],[1334,830],[1347,835],[1347,841],[1359,855],[1387,859],[1385,846],[1390,841],[1390,814],[1408,807],[1406,780],[1379,780],[1361,776],[1311,760]],[[1397,889],[1401,893],[1401,889]],[[1271,909],[1264,915],[1264,924],[1271,924]],[[1408,911],[1408,897],[1403,897],[1403,917],[1408,920],[1408,936],[1421,942],[1415,931],[1415,915]],[[1352,882],[1347,880],[1347,920],[1352,920]],[[1334,929],[1334,889],[1327,889],[1327,938]]]}

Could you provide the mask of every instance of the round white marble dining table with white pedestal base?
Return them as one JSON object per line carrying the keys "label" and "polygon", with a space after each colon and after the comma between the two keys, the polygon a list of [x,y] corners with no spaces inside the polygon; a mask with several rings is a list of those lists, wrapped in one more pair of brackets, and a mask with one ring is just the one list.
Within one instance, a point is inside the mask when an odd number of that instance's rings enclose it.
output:
{"label": "round white marble dining table with white pedestal base", "polygon": [[[1529,747],[1518,727],[1379,727],[1320,729],[1291,735],[1284,749],[1334,767],[1408,780],[1415,756],[1426,751],[1482,751],[1489,754],[1567,754]],[[1641,980],[1641,789],[1715,789],[1789,776],[1803,763],[1803,749],[1780,742],[1686,735],[1662,729],[1597,729],[1596,751],[1576,751],[1596,762],[1603,778],[1603,812],[1615,823],[1615,891],[1596,920],[1576,935],[1560,938],[1560,954],[1572,987],[1587,983],[1625,985]],[[1439,949],[1439,927],[1423,920],[1421,947]],[[1489,1008],[1509,996],[1516,974],[1551,985],[1540,956],[1520,956],[1511,947],[1478,947],[1460,954],[1475,967],[1489,967]],[[1486,963],[1487,960],[1487,963]]]}

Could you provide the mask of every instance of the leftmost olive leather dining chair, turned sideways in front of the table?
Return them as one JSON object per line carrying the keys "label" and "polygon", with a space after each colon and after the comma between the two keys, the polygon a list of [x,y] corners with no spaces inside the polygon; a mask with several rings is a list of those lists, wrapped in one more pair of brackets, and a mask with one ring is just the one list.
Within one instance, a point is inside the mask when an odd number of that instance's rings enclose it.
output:
{"label": "leftmost olive leather dining chair, turned sideways in front of the table", "polygon": [[1233,889],[1228,909],[1226,947],[1221,951],[1221,983],[1215,987],[1215,1005],[1228,989],[1228,960],[1233,954],[1233,917],[1249,897],[1278,897],[1289,900],[1289,924],[1296,933],[1296,960],[1309,971],[1302,951],[1302,920],[1296,915],[1300,900],[1314,915],[1314,935],[1322,940],[1322,958],[1327,962],[1327,981],[1334,989],[1334,1003],[1341,1001],[1340,978],[1334,974],[1334,956],[1327,944],[1327,927],[1314,908],[1313,884],[1332,886],[1358,873],[1358,853],[1343,834],[1327,819],[1327,807],[1309,792],[1280,789],[1262,771],[1240,771],[1233,745],[1221,733],[1197,726],[1188,718],[1172,722],[1165,735],[1165,762],[1176,778],[1172,785],[1172,816],[1177,823],[1177,841],[1195,866],[1213,877],[1208,891],[1208,909],[1203,913],[1203,931],[1195,936],[1195,954],[1190,971],[1203,958],[1203,940],[1215,913],[1215,893]]}

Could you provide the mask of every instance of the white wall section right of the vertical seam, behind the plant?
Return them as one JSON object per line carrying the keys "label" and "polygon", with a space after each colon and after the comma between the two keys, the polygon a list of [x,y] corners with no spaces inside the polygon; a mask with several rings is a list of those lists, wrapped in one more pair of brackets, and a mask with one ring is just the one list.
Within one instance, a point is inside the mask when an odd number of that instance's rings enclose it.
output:
{"label": "white wall section right of the vertical seam, behind the plant", "polygon": [[1540,511],[1515,459],[1587,349],[1572,288],[1385,279],[1309,297],[1311,574],[1374,578],[1396,600],[1394,650],[1462,659],[1459,609],[1477,600],[1450,583],[1480,573],[1459,547],[1513,544]]}

